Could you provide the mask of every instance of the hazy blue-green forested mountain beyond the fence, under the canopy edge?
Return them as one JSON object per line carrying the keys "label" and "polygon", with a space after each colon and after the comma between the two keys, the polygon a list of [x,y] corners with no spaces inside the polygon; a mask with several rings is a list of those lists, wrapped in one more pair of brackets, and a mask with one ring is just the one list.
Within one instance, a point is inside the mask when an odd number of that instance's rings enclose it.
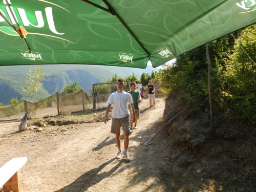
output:
{"label": "hazy blue-green forested mountain beyond the fence, under the canopy edge", "polygon": [[[49,76],[44,81],[44,89],[35,93],[34,101],[41,97],[46,98],[57,91],[60,92],[66,84],[75,81],[78,81],[84,91],[90,93],[93,83],[106,82],[112,79],[114,74],[123,78],[134,73],[139,79],[143,72],[151,74],[152,71],[158,71],[150,65],[146,69],[90,65],[43,65],[42,67],[43,72]],[[17,97],[18,100],[31,100],[31,96],[24,93],[22,87],[28,77],[27,73],[33,68],[34,66],[2,66],[0,68],[0,102],[7,104],[13,97]]]}

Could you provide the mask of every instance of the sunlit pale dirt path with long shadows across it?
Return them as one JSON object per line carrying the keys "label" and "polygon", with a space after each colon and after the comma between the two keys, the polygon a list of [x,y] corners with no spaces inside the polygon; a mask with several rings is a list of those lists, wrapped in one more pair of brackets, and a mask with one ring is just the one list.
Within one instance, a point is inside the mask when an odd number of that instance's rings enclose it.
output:
{"label": "sunlit pale dirt path with long shadows across it", "polygon": [[[17,132],[19,122],[0,123],[0,166],[15,157],[28,157],[19,170],[20,191],[163,191],[159,165],[165,164],[167,141],[159,134],[152,145],[144,145],[163,125],[164,99],[140,104],[138,130],[130,136],[131,161],[115,159],[115,135],[111,122],[75,124],[64,135]],[[102,112],[103,113],[103,112]],[[55,132],[56,133],[56,132]],[[161,133],[161,132],[160,132]],[[9,137],[3,137],[11,134]],[[123,135],[121,135],[123,149]],[[166,152],[166,154],[165,154]]]}

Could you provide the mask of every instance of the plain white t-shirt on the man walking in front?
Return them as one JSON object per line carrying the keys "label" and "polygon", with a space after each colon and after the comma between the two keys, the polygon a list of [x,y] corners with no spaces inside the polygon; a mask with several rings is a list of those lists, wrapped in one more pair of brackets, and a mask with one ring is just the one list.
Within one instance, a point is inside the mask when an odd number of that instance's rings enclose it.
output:
{"label": "plain white t-shirt on the man walking in front", "polygon": [[116,119],[121,119],[129,115],[127,108],[128,104],[133,103],[133,98],[132,95],[125,91],[122,93],[115,92],[109,96],[107,102],[109,104],[113,104],[113,117]]}

